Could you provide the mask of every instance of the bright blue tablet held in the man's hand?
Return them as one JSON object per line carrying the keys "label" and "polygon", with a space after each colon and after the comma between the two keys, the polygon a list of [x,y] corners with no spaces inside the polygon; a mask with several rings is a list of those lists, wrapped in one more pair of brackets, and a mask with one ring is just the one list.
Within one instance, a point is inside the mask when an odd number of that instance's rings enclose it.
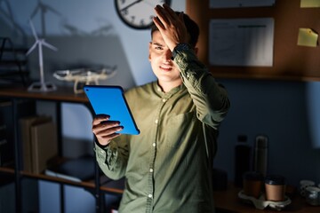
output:
{"label": "bright blue tablet held in the man's hand", "polygon": [[120,86],[85,85],[84,92],[95,114],[108,114],[109,121],[118,121],[124,127],[121,134],[139,135],[130,108]]}

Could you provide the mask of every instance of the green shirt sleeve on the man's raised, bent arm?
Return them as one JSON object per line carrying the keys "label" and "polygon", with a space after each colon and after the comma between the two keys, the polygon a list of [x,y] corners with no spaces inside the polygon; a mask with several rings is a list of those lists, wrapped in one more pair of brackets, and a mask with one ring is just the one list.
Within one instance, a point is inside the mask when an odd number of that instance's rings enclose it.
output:
{"label": "green shirt sleeve on the man's raised, bent arm", "polygon": [[230,107],[228,92],[217,83],[194,51],[182,51],[174,59],[200,121],[217,129]]}

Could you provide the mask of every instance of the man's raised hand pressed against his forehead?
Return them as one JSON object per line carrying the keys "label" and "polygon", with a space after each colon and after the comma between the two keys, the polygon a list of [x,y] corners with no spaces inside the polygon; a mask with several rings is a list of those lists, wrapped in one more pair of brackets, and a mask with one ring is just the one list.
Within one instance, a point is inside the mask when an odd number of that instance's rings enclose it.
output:
{"label": "man's raised hand pressed against his forehead", "polygon": [[169,5],[156,5],[153,21],[164,38],[168,48],[173,51],[178,43],[188,43],[188,31],[183,20],[183,12],[178,16]]}

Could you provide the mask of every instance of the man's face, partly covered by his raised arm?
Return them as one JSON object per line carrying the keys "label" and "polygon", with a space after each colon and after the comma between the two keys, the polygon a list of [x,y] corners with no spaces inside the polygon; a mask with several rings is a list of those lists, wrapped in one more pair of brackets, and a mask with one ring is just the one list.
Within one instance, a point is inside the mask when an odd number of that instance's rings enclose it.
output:
{"label": "man's face, partly covered by his raised arm", "polygon": [[153,33],[152,41],[149,43],[149,61],[160,86],[178,86],[182,83],[180,71],[172,61],[172,51],[164,43],[160,32]]}

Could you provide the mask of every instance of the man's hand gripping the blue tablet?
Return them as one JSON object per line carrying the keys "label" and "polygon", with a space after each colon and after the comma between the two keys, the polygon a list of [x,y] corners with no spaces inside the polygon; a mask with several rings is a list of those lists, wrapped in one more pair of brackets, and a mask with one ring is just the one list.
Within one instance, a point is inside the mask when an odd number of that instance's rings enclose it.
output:
{"label": "man's hand gripping the blue tablet", "polygon": [[111,139],[120,135],[116,131],[124,129],[120,122],[109,121],[109,118],[108,114],[98,114],[92,121],[92,132],[102,146],[107,146]]}

